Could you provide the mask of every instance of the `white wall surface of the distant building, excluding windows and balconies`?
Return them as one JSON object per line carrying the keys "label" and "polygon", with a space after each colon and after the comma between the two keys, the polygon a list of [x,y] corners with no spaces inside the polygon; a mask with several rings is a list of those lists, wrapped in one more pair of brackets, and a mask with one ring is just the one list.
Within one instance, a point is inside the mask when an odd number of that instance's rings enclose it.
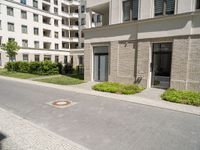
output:
{"label": "white wall surface of the distant building, excluding windows and balconies", "polygon": [[[42,10],[42,3],[50,5],[50,12],[46,12]],[[44,0],[38,0],[38,8],[33,7],[33,1],[27,0],[26,5],[23,5],[20,3],[20,0],[1,0],[0,1],[0,20],[1,20],[1,28],[0,28],[0,37],[1,37],[1,43],[6,43],[8,41],[8,38],[14,38],[20,46],[22,46],[22,40],[28,40],[28,48],[21,48],[18,55],[16,56],[17,60],[23,60],[22,54],[29,54],[29,61],[34,61],[34,55],[39,54],[40,60],[43,60],[44,55],[52,55],[52,61],[54,61],[55,55],[59,56],[60,62],[64,62],[64,56],[68,56],[68,60],[70,60],[70,55],[73,49],[66,49],[62,48],[62,42],[73,42],[79,44],[82,39],[73,38],[73,39],[65,39],[62,37],[62,29],[69,30],[82,30],[82,28],[79,28],[80,24],[76,27],[73,27],[73,29],[64,27],[62,25],[62,17],[63,12],[61,9],[61,4],[65,3],[69,7],[77,6],[79,9],[80,2],[79,1],[66,1],[66,0],[58,0],[58,5],[54,4],[54,1],[51,0],[50,3],[46,2]],[[7,15],[7,6],[12,7],[14,9],[14,16]],[[54,8],[58,8],[58,14],[54,13]],[[21,10],[24,10],[27,12],[27,19],[21,18]],[[33,21],[33,14],[38,14],[39,21],[34,22]],[[75,16],[74,16],[75,15]],[[76,16],[77,15],[77,16]],[[51,18],[51,24],[44,24],[43,23],[43,16]],[[77,17],[79,18],[79,14],[64,14],[64,17],[67,18],[73,18]],[[54,25],[54,20],[58,20],[58,26]],[[14,23],[14,32],[10,32],[7,29],[7,23]],[[26,25],[28,27],[28,33],[23,34],[21,31],[21,25]],[[39,29],[39,35],[34,35],[34,28]],[[51,31],[50,37],[44,37],[43,36],[43,29],[47,29]],[[55,32],[58,32],[59,37],[55,38],[54,34]],[[80,35],[79,35],[80,36]],[[34,41],[39,41],[39,49],[34,48]],[[83,41],[83,40],[82,40]],[[50,49],[44,49],[43,43],[49,42],[51,43]],[[59,44],[59,48],[55,49],[55,44]],[[79,47],[77,50],[81,51],[83,55],[83,49],[81,49],[81,44],[79,44]],[[1,61],[2,66],[5,65],[5,63],[8,61],[7,56],[3,51],[0,51],[1,53]]]}

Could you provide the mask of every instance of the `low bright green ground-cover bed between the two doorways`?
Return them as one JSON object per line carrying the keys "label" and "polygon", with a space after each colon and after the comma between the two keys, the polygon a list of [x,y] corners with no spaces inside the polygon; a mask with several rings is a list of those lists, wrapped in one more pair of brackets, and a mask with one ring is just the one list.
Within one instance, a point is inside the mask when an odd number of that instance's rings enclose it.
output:
{"label": "low bright green ground-cover bed between the two doorways", "polygon": [[121,84],[116,82],[102,82],[92,87],[96,91],[110,92],[117,94],[136,94],[144,90],[135,84]]}

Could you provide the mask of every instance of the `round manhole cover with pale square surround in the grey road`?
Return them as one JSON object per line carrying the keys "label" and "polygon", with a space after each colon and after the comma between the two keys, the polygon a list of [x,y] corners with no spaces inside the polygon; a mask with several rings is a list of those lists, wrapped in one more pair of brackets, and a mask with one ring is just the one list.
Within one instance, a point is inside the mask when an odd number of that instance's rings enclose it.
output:
{"label": "round manhole cover with pale square surround in the grey road", "polygon": [[70,106],[72,106],[76,103],[69,101],[69,100],[60,99],[60,100],[52,101],[48,104],[51,105],[51,106],[57,107],[57,108],[67,108],[67,107],[70,107]]}

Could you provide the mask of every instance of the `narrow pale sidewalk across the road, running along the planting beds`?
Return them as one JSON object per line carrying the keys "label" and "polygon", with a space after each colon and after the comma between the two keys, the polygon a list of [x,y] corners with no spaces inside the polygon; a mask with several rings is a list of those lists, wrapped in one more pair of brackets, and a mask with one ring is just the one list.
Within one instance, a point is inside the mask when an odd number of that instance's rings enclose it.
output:
{"label": "narrow pale sidewalk across the road, running along the planting beds", "polygon": [[[77,93],[82,93],[82,94],[107,97],[107,98],[112,98],[112,99],[116,99],[116,100],[120,100],[120,101],[133,102],[133,103],[137,103],[137,104],[159,107],[162,109],[169,109],[169,110],[174,110],[174,111],[180,111],[180,112],[200,115],[200,107],[184,105],[184,104],[176,104],[176,103],[163,101],[160,98],[158,98],[158,96],[150,96],[150,98],[147,98],[148,91],[143,91],[143,92],[146,92],[146,94],[139,93],[136,95],[119,95],[119,94],[94,91],[90,88],[90,86],[94,84],[92,82],[83,83],[80,85],[62,86],[62,85],[41,83],[41,82],[37,82],[37,81],[16,79],[16,78],[4,77],[4,76],[0,76],[0,79],[17,81],[17,82],[22,82],[22,83],[27,83],[27,84],[34,84],[34,85],[45,86],[45,87],[50,87],[50,88],[56,88],[56,89],[60,89],[60,90],[72,91],[72,92],[77,92]],[[151,89],[147,89],[147,90],[151,90]],[[162,92],[162,91],[160,91],[160,92]],[[158,93],[160,93],[160,92],[158,92]],[[150,91],[150,93],[151,93],[151,91]]]}

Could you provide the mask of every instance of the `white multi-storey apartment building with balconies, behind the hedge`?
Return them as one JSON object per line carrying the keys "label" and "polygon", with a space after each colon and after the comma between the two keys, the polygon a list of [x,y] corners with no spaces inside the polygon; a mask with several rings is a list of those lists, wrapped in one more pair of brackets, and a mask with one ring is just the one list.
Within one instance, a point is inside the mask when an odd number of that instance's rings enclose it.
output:
{"label": "white multi-storey apartment building with balconies, behind the hedge", "polygon": [[[21,49],[12,58],[17,61],[83,64],[81,3],[80,0],[1,0],[0,44],[17,41]],[[8,61],[0,50],[0,66]]]}

